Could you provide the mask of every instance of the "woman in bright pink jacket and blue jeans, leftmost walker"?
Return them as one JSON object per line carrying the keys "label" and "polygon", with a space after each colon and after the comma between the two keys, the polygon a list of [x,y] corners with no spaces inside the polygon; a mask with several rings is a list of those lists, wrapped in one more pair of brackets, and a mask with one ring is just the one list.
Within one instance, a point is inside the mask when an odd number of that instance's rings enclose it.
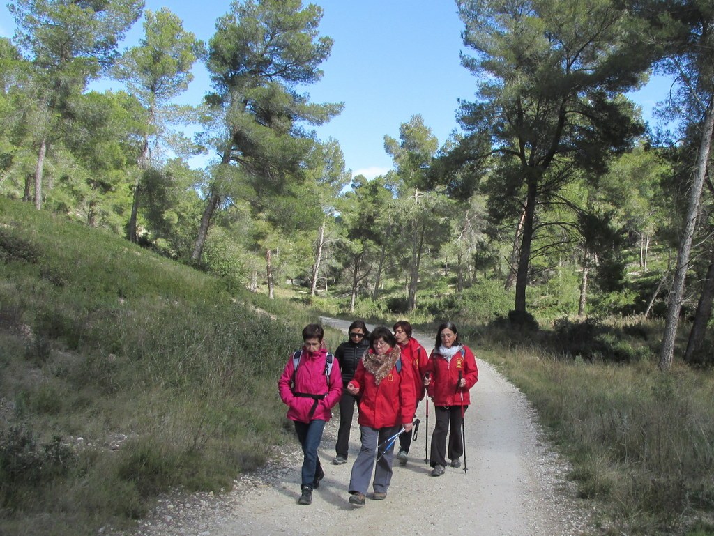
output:
{"label": "woman in bright pink jacket and blue jeans, leftmost walker", "polygon": [[303,348],[291,354],[278,380],[280,398],[288,405],[288,419],[303,447],[301,495],[298,504],[312,502],[313,489],[325,477],[317,449],[331,408],[342,395],[342,375],[337,360],[323,344],[324,330],[319,324],[303,328]]}

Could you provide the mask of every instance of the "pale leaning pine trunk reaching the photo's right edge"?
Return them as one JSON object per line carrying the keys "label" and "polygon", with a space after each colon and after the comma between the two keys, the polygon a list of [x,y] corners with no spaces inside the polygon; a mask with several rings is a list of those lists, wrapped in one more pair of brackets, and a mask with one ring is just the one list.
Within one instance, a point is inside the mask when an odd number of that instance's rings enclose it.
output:
{"label": "pale leaning pine trunk reaching the photo's right edge", "polygon": [[702,187],[707,176],[707,162],[712,143],[712,130],[714,129],[714,99],[710,98],[707,112],[704,119],[704,128],[697,156],[694,181],[689,191],[687,202],[687,216],[684,226],[684,233],[680,241],[677,253],[677,266],[675,268],[672,290],[667,301],[667,316],[665,318],[665,330],[660,347],[660,370],[669,370],[672,366],[674,356],[674,344],[677,337],[677,326],[679,323],[679,313],[682,309],[684,296],[684,283],[689,268],[689,257],[692,251],[692,239],[699,215],[699,202],[702,194]]}

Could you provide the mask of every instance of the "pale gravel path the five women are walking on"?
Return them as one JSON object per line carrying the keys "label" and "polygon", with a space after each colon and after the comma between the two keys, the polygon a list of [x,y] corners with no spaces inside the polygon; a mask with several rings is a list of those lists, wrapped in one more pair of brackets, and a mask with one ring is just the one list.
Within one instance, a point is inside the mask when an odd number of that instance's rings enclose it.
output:
{"label": "pale gravel path the five women are walking on", "polygon": [[[343,320],[323,323],[346,331]],[[414,333],[425,348],[433,334]],[[468,344],[468,341],[467,341]],[[319,450],[326,477],[313,492],[310,506],[297,504],[300,495],[301,452],[283,453],[281,461],[236,481],[235,489],[219,497],[197,494],[164,497],[151,516],[131,531],[136,536],[248,536],[369,534],[577,536],[588,526],[588,515],[564,479],[567,467],[558,459],[535,423],[528,400],[483,360],[476,360],[478,383],[466,412],[468,472],[447,467],[431,477],[424,462],[425,435],[433,431],[430,404],[417,410],[421,420],[410,461],[398,463],[387,500],[367,500],[361,508],[348,503],[351,462],[359,449],[353,423],[350,459],[331,465],[338,418],[328,423]],[[355,419],[356,421],[356,419]],[[298,447],[297,440],[295,446]],[[396,462],[396,460],[395,460]],[[368,496],[369,497],[369,496]]]}

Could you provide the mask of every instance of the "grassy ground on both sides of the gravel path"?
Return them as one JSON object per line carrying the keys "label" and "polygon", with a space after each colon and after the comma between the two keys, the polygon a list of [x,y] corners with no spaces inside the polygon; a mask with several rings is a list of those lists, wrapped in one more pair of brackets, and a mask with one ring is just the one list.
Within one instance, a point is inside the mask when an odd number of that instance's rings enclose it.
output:
{"label": "grassy ground on both sides of the gravel path", "polygon": [[[276,378],[313,313],[227,288],[0,198],[0,534],[126,527],[157,493],[228,489],[293,441]],[[598,534],[714,535],[714,371],[658,372],[660,324],[514,333],[444,305],[427,321],[456,320],[526,393],[602,505]]]}

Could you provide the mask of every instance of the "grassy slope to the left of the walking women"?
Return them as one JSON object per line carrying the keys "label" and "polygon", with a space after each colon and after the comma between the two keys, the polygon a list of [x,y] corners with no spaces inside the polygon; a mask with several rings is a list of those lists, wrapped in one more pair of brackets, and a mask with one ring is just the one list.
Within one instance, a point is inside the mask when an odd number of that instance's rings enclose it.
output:
{"label": "grassy slope to the left of the walking women", "polygon": [[276,378],[312,320],[0,198],[0,533],[79,535],[229,488],[288,438]]}

